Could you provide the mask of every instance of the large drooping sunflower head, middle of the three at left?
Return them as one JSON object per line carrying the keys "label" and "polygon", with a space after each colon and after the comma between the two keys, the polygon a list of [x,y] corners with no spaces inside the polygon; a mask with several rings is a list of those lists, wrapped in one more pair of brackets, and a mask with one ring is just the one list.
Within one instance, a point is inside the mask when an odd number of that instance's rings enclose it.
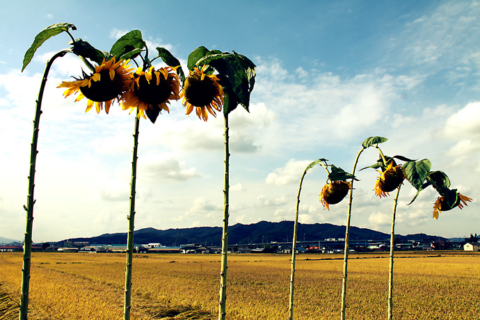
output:
{"label": "large drooping sunflower head, middle of the three at left", "polygon": [[138,118],[143,116],[146,119],[147,113],[152,122],[155,122],[160,111],[170,112],[167,106],[169,100],[180,99],[176,70],[177,67],[161,67],[159,70],[150,67],[147,72],[143,72],[139,67],[130,90],[120,97],[122,109],[138,108]]}

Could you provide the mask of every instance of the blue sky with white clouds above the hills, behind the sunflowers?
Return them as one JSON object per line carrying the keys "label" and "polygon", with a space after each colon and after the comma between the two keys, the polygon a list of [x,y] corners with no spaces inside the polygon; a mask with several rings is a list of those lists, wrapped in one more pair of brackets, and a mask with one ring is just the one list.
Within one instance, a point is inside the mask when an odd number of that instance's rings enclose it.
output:
{"label": "blue sky with white clouds above the hills, behind the sunflowers", "polygon": [[[230,224],[293,220],[310,161],[326,158],[350,171],[362,141],[385,136],[385,154],[431,159],[452,188],[474,199],[435,221],[435,191],[407,206],[415,190],[406,183],[397,232],[480,231],[478,1],[11,1],[0,17],[0,237],[23,237],[35,99],[45,62],[70,39],[45,42],[21,73],[24,52],[59,22],[106,51],[138,29],[151,52],[166,47],[185,70],[200,45],[237,51],[257,65],[250,113],[239,108],[230,116]],[[109,115],[85,113],[84,100],[64,99],[57,83],[81,67],[65,56],[47,83],[34,241],[127,230],[134,116],[118,105]],[[223,119],[184,113],[173,102],[155,125],[141,121],[136,229],[221,225]],[[366,150],[359,167],[377,158]],[[389,232],[393,197],[375,197],[377,176],[358,173],[352,224]],[[345,223],[346,201],[326,211],[318,200],[325,182],[323,168],[307,173],[301,222]]]}

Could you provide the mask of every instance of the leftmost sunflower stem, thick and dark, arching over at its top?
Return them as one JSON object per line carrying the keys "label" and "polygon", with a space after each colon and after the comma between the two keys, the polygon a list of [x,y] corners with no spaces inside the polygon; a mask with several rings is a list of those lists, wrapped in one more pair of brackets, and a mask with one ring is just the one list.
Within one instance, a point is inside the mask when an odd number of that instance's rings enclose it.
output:
{"label": "leftmost sunflower stem, thick and dark, arching over at its top", "polygon": [[19,320],[26,320],[29,313],[29,288],[30,288],[30,267],[31,267],[31,250],[32,250],[32,231],[33,231],[33,205],[35,200],[33,198],[33,189],[35,189],[35,165],[37,159],[37,145],[38,145],[38,131],[40,125],[40,115],[42,114],[42,98],[45,90],[45,84],[47,83],[47,77],[50,71],[51,65],[56,58],[65,56],[68,52],[72,52],[70,49],[64,49],[58,51],[54,56],[47,61],[45,71],[43,72],[42,83],[40,84],[40,90],[38,92],[38,98],[36,100],[35,119],[33,120],[33,137],[30,150],[30,171],[29,171],[29,191],[26,197],[26,225],[24,234],[24,259],[22,266],[22,293],[20,294],[20,312]]}

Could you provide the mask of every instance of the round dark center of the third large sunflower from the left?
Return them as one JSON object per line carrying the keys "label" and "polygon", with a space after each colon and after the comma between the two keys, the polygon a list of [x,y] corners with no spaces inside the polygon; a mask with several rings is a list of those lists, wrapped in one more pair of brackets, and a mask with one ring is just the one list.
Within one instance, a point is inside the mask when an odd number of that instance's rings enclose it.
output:
{"label": "round dark center of the third large sunflower from the left", "polygon": [[184,96],[193,106],[209,105],[215,98],[216,92],[214,80],[209,77],[202,80],[200,74],[193,74],[185,80]]}

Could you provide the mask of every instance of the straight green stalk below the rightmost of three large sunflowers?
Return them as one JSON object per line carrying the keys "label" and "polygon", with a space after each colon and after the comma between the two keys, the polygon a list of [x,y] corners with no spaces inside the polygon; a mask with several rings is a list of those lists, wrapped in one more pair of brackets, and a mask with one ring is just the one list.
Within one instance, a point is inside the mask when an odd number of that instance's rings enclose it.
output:
{"label": "straight green stalk below the rightmost of three large sunflowers", "polygon": [[230,175],[230,152],[228,145],[228,113],[225,115],[225,177],[223,179],[223,234],[222,234],[222,262],[220,272],[220,302],[218,306],[218,320],[225,320],[227,314],[227,251],[228,251],[228,195],[229,195],[229,175]]}

